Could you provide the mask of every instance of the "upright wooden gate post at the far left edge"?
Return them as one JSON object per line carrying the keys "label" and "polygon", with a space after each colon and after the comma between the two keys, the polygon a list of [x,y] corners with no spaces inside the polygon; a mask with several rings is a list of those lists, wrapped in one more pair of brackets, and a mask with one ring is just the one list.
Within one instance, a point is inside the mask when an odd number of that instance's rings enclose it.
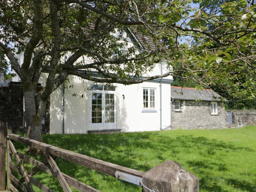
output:
{"label": "upright wooden gate post at the far left edge", "polygon": [[5,190],[6,127],[0,121],[0,191]]}

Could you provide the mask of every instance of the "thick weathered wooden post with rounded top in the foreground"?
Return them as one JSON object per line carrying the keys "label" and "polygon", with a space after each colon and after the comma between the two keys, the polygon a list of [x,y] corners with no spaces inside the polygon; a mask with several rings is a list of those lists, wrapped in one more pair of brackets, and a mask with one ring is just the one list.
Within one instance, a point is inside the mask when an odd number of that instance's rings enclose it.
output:
{"label": "thick weathered wooden post with rounded top in the foreground", "polygon": [[143,174],[143,192],[199,192],[199,179],[175,161],[166,161]]}

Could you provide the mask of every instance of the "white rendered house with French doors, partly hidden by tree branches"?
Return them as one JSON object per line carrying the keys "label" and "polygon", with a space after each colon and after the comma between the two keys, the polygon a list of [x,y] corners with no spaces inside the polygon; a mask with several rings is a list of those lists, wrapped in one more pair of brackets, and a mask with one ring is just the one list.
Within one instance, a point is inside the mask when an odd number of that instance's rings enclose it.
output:
{"label": "white rendered house with French doors, partly hidden by tree branches", "polygon": [[[133,46],[132,42],[141,37],[129,32],[128,46]],[[22,55],[18,60],[22,64]],[[145,76],[166,72],[166,62],[162,60],[153,71],[146,71]],[[41,77],[43,86],[45,75]],[[157,131],[171,126],[172,76],[127,86],[96,84],[77,76],[69,79],[74,86],[60,87],[50,95],[50,134]]]}

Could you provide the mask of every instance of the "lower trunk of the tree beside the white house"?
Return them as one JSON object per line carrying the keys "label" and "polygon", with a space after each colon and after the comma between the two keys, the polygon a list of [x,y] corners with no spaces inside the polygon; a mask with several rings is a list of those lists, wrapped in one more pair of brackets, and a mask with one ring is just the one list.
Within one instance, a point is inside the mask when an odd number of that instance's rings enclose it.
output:
{"label": "lower trunk of the tree beside the white house", "polygon": [[41,122],[46,105],[46,101],[41,99],[40,92],[36,93],[36,87],[33,86],[30,89],[23,89],[27,136],[39,142],[41,142]]}

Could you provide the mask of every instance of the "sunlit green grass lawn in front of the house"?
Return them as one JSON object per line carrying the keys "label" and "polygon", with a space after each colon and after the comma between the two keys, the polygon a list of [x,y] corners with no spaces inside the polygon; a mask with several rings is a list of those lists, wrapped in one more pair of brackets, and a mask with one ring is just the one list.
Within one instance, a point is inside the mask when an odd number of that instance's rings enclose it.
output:
{"label": "sunlit green grass lawn in front of the house", "polygon": [[[176,130],[114,135],[43,135],[45,143],[146,172],[166,160],[177,161],[199,178],[200,192],[256,192],[256,126],[241,129]],[[25,146],[15,143],[16,149]],[[104,192],[141,192],[141,188],[56,159],[60,170]],[[25,163],[26,169],[32,166]],[[34,176],[54,191],[57,179]],[[37,189],[34,187],[34,189]],[[74,190],[75,191],[75,190]]]}

